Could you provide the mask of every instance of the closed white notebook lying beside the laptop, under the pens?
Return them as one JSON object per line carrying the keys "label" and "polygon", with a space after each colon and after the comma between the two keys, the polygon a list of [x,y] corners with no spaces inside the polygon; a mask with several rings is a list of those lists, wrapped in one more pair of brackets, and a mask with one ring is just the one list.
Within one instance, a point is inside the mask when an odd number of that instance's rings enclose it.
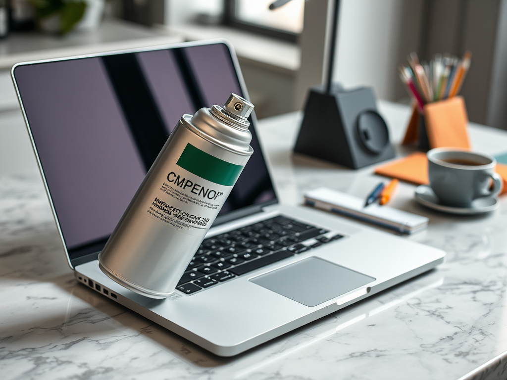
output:
{"label": "closed white notebook lying beside the laptop, under the pens", "polygon": [[428,225],[428,218],[373,203],[365,207],[365,200],[327,187],[319,187],[305,194],[307,206],[378,224],[403,234],[412,234]]}

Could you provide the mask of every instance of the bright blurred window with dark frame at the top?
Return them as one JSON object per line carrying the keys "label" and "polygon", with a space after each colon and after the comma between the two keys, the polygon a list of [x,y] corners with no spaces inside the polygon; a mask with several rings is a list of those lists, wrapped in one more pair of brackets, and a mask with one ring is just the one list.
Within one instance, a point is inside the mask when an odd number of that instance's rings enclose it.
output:
{"label": "bright blurred window with dark frame at the top", "polygon": [[252,32],[297,42],[303,30],[304,0],[270,10],[274,0],[225,0],[225,23]]}

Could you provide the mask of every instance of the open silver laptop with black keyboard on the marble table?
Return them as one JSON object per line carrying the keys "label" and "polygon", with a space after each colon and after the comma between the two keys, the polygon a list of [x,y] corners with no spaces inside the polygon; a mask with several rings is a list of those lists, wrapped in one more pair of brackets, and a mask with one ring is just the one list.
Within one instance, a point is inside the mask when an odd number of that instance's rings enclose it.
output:
{"label": "open silver laptop with black keyboard on the marble table", "polygon": [[[279,204],[253,153],[166,299],[104,275],[97,256],[184,113],[248,99],[227,41],[19,63],[12,77],[77,280],[220,356],[233,356],[443,262],[445,253],[339,216]],[[281,195],[283,197],[283,194]]]}

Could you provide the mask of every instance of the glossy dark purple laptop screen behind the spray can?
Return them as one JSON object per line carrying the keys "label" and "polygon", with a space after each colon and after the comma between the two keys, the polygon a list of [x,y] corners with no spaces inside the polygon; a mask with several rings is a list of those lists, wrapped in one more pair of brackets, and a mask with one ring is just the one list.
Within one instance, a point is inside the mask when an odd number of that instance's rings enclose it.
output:
{"label": "glossy dark purple laptop screen behind the spray can", "polygon": [[[184,113],[243,95],[222,43],[20,65],[14,76],[71,260],[102,249]],[[276,202],[250,131],[254,153],[217,222]]]}

